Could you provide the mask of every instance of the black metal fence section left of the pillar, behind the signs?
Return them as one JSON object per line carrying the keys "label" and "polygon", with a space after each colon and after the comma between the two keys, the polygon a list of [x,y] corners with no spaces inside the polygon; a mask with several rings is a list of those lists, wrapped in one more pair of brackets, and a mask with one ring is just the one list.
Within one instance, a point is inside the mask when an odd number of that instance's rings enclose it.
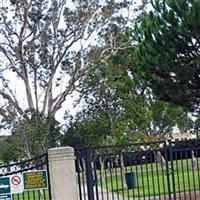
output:
{"label": "black metal fence section left of the pillar, behind the signs", "polygon": [[[43,170],[47,171],[47,181],[48,187],[47,189],[33,189],[27,190],[22,193],[12,194],[12,200],[51,200],[50,197],[50,181],[49,181],[49,170],[48,170],[48,155],[47,153],[42,154],[38,157],[23,160],[16,163],[9,163],[0,166],[0,179],[2,177],[11,177],[12,175],[16,175],[16,177],[22,176],[25,172],[41,172]],[[19,176],[17,176],[19,175]],[[21,181],[21,178],[18,178]],[[11,182],[11,181],[10,181]],[[1,197],[0,199],[7,199],[7,197]],[[10,199],[10,198],[8,198]]]}

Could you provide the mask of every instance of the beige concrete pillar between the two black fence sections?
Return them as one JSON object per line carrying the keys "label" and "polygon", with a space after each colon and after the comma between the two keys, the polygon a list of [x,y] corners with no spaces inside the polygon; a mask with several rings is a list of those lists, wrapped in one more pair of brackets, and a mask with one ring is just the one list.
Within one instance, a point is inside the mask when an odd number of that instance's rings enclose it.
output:
{"label": "beige concrete pillar between the two black fence sections", "polygon": [[78,200],[74,149],[49,149],[48,158],[52,200]]}

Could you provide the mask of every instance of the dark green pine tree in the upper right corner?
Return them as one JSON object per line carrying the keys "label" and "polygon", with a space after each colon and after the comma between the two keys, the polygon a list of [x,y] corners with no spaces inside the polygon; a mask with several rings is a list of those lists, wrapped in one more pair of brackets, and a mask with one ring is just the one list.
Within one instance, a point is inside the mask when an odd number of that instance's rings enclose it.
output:
{"label": "dark green pine tree in the upper right corner", "polygon": [[160,99],[199,109],[199,1],[153,0],[138,35],[135,66]]}

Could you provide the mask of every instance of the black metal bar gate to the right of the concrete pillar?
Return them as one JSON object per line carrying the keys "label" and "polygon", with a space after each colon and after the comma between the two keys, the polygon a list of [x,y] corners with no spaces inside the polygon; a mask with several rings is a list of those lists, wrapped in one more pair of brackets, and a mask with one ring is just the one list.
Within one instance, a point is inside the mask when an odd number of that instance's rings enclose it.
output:
{"label": "black metal bar gate to the right of the concrete pillar", "polygon": [[200,140],[76,149],[80,200],[200,199]]}

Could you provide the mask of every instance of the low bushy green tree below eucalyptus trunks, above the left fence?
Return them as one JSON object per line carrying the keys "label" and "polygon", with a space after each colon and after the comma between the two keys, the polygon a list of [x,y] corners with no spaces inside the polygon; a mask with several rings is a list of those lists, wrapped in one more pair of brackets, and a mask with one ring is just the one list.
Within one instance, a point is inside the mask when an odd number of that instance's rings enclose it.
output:
{"label": "low bushy green tree below eucalyptus trunks, above the left fence", "polygon": [[13,134],[4,141],[4,160],[30,159],[58,146],[61,126],[52,117],[41,113],[26,113],[30,119],[21,117],[12,129]]}

